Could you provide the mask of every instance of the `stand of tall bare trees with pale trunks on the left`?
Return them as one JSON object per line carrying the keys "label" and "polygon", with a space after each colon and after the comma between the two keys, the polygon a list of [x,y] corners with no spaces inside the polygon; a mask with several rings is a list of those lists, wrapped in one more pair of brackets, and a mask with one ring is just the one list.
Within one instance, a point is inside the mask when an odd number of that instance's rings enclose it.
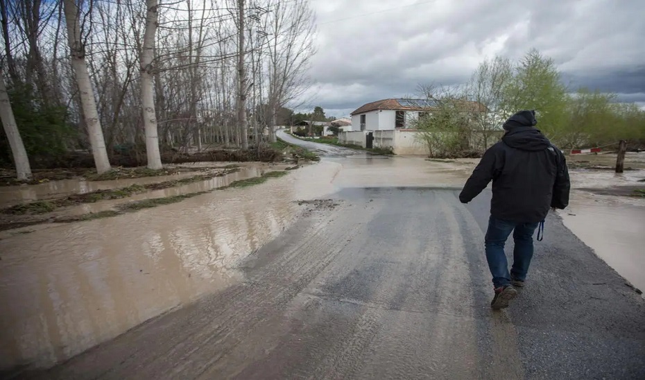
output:
{"label": "stand of tall bare trees with pale trunks on the left", "polygon": [[[315,53],[309,0],[0,0],[0,164],[275,141]],[[9,149],[10,148],[10,149]]]}

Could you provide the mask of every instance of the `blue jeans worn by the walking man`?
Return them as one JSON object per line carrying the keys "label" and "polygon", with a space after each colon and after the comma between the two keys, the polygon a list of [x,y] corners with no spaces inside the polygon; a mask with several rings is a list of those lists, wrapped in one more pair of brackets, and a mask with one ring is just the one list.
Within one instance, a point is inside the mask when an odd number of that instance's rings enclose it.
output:
{"label": "blue jeans worn by the walking man", "polygon": [[[538,225],[540,223],[515,223],[490,216],[485,237],[486,260],[495,288],[510,285],[511,275],[522,281],[526,279],[528,266],[531,265],[533,257],[533,233]],[[504,243],[513,230],[515,230],[513,232],[513,240],[515,240],[513,268],[508,273]]]}

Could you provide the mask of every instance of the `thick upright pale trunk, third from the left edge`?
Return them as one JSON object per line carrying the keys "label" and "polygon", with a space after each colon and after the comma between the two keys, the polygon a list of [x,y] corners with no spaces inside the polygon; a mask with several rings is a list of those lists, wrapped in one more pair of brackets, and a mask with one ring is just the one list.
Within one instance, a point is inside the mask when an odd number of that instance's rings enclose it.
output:
{"label": "thick upright pale trunk, third from the left edge", "polygon": [[144,109],[144,128],[146,129],[146,153],[148,168],[162,169],[157,134],[157,115],[155,113],[155,88],[153,85],[152,62],[157,32],[157,0],[146,0],[146,32],[141,49],[141,107]]}

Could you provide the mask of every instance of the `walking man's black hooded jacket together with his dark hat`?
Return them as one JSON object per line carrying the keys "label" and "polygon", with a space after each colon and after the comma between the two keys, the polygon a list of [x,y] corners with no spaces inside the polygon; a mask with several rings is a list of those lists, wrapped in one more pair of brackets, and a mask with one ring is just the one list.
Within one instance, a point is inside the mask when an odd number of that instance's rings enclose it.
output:
{"label": "walking man's black hooded jacket together with his dark hat", "polygon": [[534,111],[517,112],[506,134],[484,153],[459,200],[470,202],[492,180],[490,214],[515,223],[543,221],[550,207],[569,205],[569,172],[562,152],[535,128]]}

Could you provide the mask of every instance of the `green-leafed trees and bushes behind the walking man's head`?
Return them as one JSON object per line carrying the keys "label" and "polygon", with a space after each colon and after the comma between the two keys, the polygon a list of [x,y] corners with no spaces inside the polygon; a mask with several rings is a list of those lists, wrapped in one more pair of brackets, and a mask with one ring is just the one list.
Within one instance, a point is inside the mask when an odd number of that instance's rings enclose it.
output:
{"label": "green-leafed trees and bushes behind the walking man's head", "polygon": [[[416,128],[436,156],[474,155],[501,137],[501,124],[518,110],[536,110],[537,128],[563,150],[645,145],[645,111],[597,89],[571,89],[553,59],[531,49],[512,62],[485,60],[464,85],[421,85],[432,103]],[[475,147],[475,149],[473,149]]]}

